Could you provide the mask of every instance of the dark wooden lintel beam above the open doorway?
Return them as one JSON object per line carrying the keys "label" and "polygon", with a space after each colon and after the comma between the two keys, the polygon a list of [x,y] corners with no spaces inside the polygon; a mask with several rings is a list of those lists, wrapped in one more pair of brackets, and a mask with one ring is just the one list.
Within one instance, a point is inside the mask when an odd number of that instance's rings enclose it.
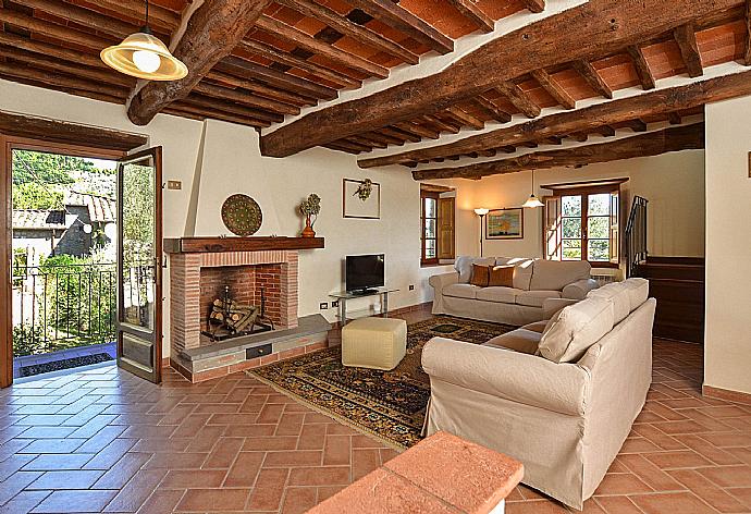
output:
{"label": "dark wooden lintel beam above the open doorway", "polygon": [[138,148],[149,142],[148,137],[141,134],[5,111],[0,111],[0,133],[69,145],[81,145],[81,142],[86,142],[87,146],[94,148],[123,151]]}

